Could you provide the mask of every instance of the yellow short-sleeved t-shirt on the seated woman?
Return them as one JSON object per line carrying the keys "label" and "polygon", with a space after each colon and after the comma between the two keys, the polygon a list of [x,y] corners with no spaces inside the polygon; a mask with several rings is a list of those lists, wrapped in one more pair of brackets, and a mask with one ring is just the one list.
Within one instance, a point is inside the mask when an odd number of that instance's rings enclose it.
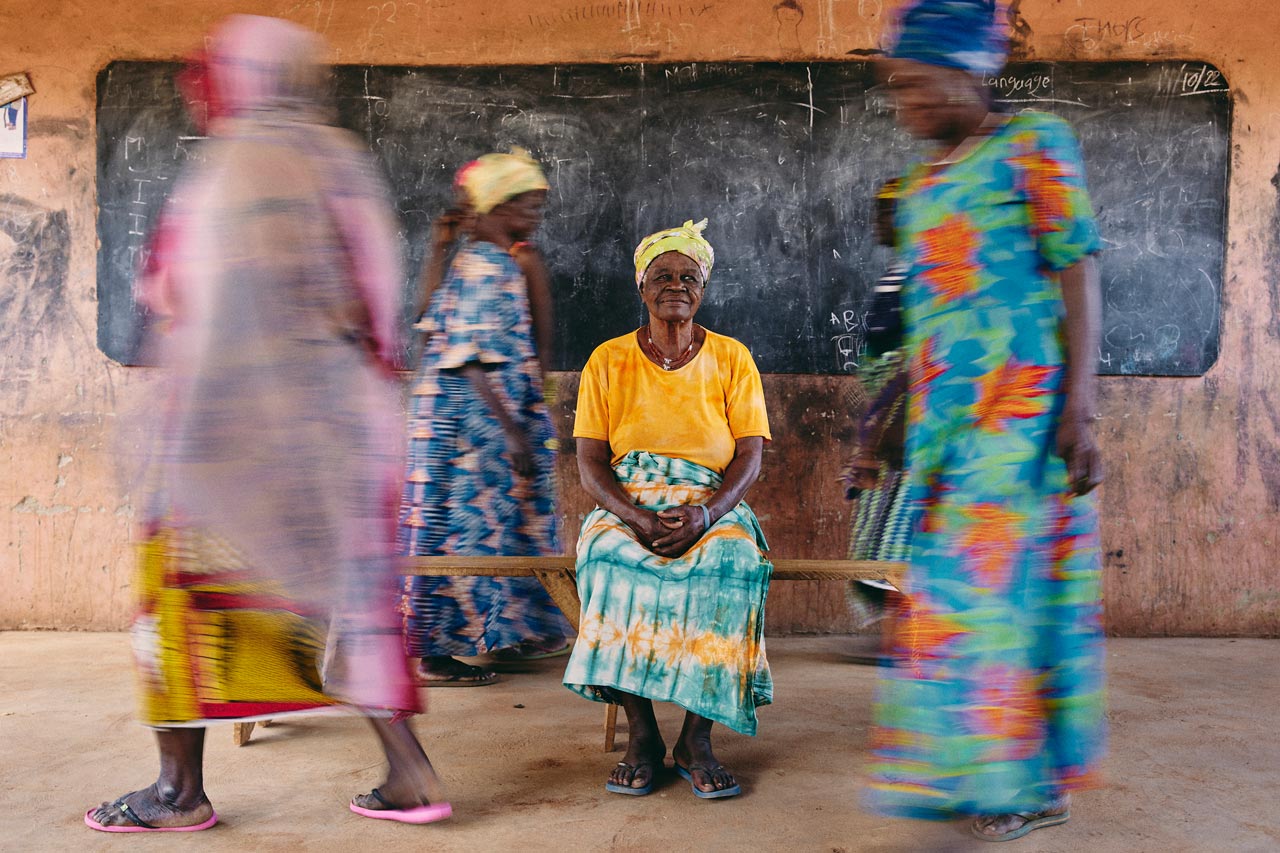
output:
{"label": "yellow short-sleeved t-shirt on the seated woman", "polygon": [[663,370],[628,332],[598,346],[582,369],[573,437],[609,442],[614,465],[648,451],[723,474],[735,442],[750,435],[771,439],[764,387],[733,338],[708,330],[692,361]]}

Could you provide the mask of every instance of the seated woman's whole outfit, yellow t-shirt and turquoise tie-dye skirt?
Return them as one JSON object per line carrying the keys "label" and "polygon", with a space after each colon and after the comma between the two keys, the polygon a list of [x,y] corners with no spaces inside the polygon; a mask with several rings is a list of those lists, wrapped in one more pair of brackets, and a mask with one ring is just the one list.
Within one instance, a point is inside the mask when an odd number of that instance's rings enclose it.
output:
{"label": "seated woman's whole outfit, yellow t-shirt and turquoise tie-dye skirt", "polygon": [[[636,336],[605,341],[579,386],[573,435],[608,442],[613,475],[636,506],[659,512],[709,501],[739,439],[771,441],[764,386],[750,351],[707,330],[676,370]],[[764,602],[773,566],[745,501],[678,557],[653,553],[617,515],[595,507],[577,539],[580,633],[564,686],[595,702],[618,692],[672,702],[754,735],[773,701]]]}

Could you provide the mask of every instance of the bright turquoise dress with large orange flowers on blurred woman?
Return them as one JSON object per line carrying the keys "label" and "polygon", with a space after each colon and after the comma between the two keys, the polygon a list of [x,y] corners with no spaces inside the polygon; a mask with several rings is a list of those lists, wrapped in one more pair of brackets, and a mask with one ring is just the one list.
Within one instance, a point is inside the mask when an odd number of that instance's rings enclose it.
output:
{"label": "bright turquoise dress with large orange flowers on blurred woman", "polygon": [[1097,511],[1055,453],[1056,270],[1100,248],[1071,129],[1023,113],[969,158],[916,167],[896,227],[914,538],[869,800],[914,817],[1037,811],[1094,781],[1106,740]]}

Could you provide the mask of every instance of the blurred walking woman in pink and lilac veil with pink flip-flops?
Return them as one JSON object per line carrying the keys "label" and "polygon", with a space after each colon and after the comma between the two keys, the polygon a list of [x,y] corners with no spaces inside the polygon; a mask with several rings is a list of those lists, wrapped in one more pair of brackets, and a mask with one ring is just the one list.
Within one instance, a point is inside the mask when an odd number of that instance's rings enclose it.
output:
{"label": "blurred walking woman in pink and lilac veil with pink flip-flops", "polygon": [[211,138],[140,292],[172,318],[145,412],[133,624],[160,776],[91,809],[97,830],[212,826],[209,722],[338,703],[369,717],[389,763],[352,811],[451,813],[406,721],[420,706],[394,607],[394,220],[365,147],[325,124],[323,51],[293,24],[237,15],[182,81]]}

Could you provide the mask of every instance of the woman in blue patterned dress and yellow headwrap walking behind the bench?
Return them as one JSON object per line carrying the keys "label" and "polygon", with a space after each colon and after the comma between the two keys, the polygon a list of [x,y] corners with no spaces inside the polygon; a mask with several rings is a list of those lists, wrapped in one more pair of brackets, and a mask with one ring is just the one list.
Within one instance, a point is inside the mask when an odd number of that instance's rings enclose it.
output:
{"label": "woman in blue patterned dress and yellow headwrap walking behind the bench", "polygon": [[[433,295],[411,388],[399,552],[559,553],[554,430],[543,400],[529,293],[512,247],[541,220],[547,179],[525,152],[489,154],[462,175],[471,241]],[[406,578],[410,654],[433,686],[476,686],[493,672],[453,656],[566,646],[564,617],[532,578]]]}

